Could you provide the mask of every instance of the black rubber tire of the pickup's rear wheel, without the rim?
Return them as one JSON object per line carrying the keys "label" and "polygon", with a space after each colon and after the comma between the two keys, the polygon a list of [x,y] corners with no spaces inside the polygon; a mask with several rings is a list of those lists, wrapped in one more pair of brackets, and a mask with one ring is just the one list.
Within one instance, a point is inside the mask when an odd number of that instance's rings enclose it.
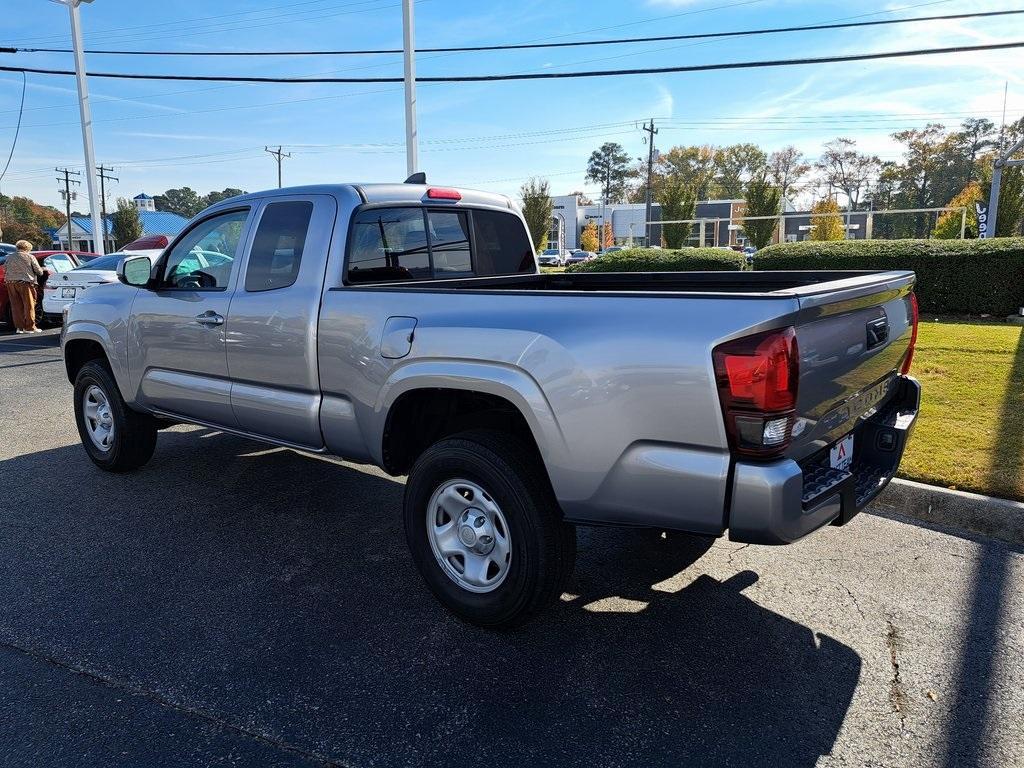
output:
{"label": "black rubber tire of the pickup's rear wheel, without the rim", "polygon": [[[430,546],[430,499],[454,479],[485,488],[508,524],[508,572],[490,592],[474,593],[453,581]],[[427,449],[409,474],[404,522],[413,559],[430,591],[460,618],[487,629],[521,625],[556,600],[575,563],[575,527],[562,519],[540,458],[502,432],[463,432]]]}

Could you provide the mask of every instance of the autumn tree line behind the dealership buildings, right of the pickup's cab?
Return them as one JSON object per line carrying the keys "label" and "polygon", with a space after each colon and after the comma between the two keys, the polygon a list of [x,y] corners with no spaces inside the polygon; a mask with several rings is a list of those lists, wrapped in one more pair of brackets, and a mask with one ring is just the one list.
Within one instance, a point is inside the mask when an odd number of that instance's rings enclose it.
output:
{"label": "autumn tree line behind the dealership buildings, right of the pickup's cab", "polygon": [[[842,237],[842,215],[852,211],[966,206],[968,237],[977,237],[974,204],[987,201],[992,160],[1000,146],[1024,136],[1024,118],[1001,130],[990,120],[972,118],[947,129],[939,123],[898,131],[892,137],[902,147],[898,161],[882,161],[860,152],[857,142],[838,137],[821,154],[805,156],[795,146],[767,152],[755,143],[728,146],[673,146],[654,163],[651,186],[665,220],[693,217],[700,200],[740,200],[746,214],[772,216],[781,199],[800,200],[822,217],[811,237]],[[647,165],[634,160],[618,143],[595,150],[587,164],[587,180],[608,203],[642,203]],[[826,200],[831,203],[826,204]],[[961,215],[950,212],[880,216],[878,238],[959,237]],[[755,242],[771,240],[771,221],[744,227]],[[1024,231],[1024,169],[1007,169],[999,197],[998,236]],[[687,225],[664,227],[666,244],[679,247],[689,238]]]}

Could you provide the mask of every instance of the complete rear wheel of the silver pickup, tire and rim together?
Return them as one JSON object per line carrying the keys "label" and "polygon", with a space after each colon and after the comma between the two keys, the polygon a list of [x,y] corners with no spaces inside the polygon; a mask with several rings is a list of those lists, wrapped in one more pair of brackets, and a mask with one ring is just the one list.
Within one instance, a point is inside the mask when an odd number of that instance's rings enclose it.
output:
{"label": "complete rear wheel of the silver pickup, tire and rim together", "polygon": [[501,432],[465,432],[427,449],[409,475],[404,518],[427,586],[480,627],[523,624],[572,572],[575,528],[561,519],[535,452]]}

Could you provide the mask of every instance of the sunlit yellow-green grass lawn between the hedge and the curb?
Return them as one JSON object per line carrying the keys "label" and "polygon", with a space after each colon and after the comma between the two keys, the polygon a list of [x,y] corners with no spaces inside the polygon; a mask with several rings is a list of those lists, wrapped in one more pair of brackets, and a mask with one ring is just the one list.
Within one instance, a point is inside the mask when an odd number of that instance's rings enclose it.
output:
{"label": "sunlit yellow-green grass lawn between the hedge and the curb", "polygon": [[921,416],[900,475],[1024,501],[1024,329],[922,317]]}

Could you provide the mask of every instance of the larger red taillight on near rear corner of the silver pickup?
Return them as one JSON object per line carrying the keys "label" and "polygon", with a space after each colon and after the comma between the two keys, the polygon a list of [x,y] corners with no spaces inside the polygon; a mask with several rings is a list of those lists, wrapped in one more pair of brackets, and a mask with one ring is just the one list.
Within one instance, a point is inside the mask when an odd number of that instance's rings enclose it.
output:
{"label": "larger red taillight on near rear corner of the silver pickup", "polygon": [[732,449],[761,458],[785,451],[800,380],[797,332],[791,327],[727,341],[713,358]]}

